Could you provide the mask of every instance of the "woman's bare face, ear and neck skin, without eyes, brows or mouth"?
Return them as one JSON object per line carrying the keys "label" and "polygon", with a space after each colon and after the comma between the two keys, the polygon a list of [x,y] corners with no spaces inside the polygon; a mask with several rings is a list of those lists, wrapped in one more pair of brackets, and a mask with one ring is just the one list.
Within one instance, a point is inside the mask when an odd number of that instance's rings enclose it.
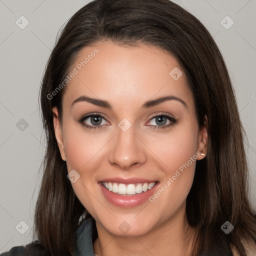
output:
{"label": "woman's bare face, ear and neck skin, without eyes, brows or mouth", "polygon": [[[169,72],[177,60],[153,46],[120,46],[111,41],[83,48],[73,67],[98,49],[96,56],[68,82],[62,98],[62,124],[53,107],[55,136],[68,172],[80,178],[72,183],[75,194],[96,221],[98,238],[93,247],[98,255],[185,255],[191,251],[193,229],[185,224],[185,200],[191,188],[195,162],[154,202],[121,208],[105,199],[98,182],[109,177],[139,177],[157,180],[160,188],[197,151],[206,152],[207,129],[199,128],[195,104],[185,74],[174,80]],[[70,69],[72,70],[73,67]],[[112,109],[92,103],[72,102],[86,95],[107,100]],[[150,108],[141,105],[158,97],[174,95]],[[102,129],[87,129],[78,120],[97,112]],[[155,114],[169,114],[177,122],[166,128],[157,125]],[[118,123],[126,118],[131,127]],[[86,124],[92,125],[90,118]],[[166,120],[162,126],[171,121]],[[94,125],[95,126],[95,125]],[[204,156],[198,156],[197,160]],[[127,233],[118,226],[126,221]],[[125,254],[124,254],[125,251]]]}

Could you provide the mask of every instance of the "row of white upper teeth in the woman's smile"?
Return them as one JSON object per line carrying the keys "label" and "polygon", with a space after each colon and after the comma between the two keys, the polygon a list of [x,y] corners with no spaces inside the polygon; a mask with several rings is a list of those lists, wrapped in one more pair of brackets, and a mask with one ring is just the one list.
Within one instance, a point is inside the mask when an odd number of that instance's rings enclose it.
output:
{"label": "row of white upper teeth in the woman's smile", "polygon": [[112,191],[113,193],[119,194],[139,194],[151,189],[155,182],[151,183],[137,183],[137,184],[122,184],[122,183],[115,183],[115,182],[102,182],[103,186]]}

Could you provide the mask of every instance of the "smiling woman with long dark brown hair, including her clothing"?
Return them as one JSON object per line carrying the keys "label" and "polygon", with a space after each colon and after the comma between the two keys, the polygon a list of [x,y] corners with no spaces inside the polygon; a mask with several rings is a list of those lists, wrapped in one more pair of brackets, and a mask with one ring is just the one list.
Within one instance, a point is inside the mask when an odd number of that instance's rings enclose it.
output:
{"label": "smiling woman with long dark brown hair, including her clothing", "polygon": [[256,253],[233,89],[190,13],[91,1],[61,32],[40,99],[38,241],[3,255]]}

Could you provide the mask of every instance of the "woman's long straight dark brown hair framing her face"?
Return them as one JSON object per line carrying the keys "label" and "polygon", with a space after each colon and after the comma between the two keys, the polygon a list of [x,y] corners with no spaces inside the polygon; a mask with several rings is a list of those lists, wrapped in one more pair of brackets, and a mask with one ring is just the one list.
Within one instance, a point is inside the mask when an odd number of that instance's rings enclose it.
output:
{"label": "woman's long straight dark brown hair framing her face", "polygon": [[[207,251],[213,240],[234,246],[256,242],[256,224],[247,199],[247,163],[243,129],[229,75],[213,38],[202,23],[169,0],[93,0],[65,24],[47,62],[40,104],[47,148],[35,211],[38,240],[52,255],[73,255],[74,230],[83,205],[67,179],[66,163],[56,143],[52,107],[61,118],[64,88],[52,95],[85,46],[112,40],[121,45],[145,43],[171,53],[179,61],[194,96],[198,124],[208,119],[207,156],[197,162],[186,199],[188,223],[197,236],[192,255]],[[68,85],[66,85],[68,86]],[[228,220],[234,229],[225,234]]]}

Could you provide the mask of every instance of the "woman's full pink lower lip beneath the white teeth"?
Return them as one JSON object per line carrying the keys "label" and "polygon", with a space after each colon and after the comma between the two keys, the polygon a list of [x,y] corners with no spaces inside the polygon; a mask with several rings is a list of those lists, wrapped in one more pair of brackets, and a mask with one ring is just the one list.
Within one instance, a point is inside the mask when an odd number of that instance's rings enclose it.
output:
{"label": "woman's full pink lower lip beneath the white teeth", "polygon": [[135,195],[118,195],[106,189],[101,182],[98,184],[102,190],[103,195],[110,203],[118,207],[130,208],[140,205],[148,200],[148,198],[153,194],[155,187],[158,185],[158,182],[151,189]]}

